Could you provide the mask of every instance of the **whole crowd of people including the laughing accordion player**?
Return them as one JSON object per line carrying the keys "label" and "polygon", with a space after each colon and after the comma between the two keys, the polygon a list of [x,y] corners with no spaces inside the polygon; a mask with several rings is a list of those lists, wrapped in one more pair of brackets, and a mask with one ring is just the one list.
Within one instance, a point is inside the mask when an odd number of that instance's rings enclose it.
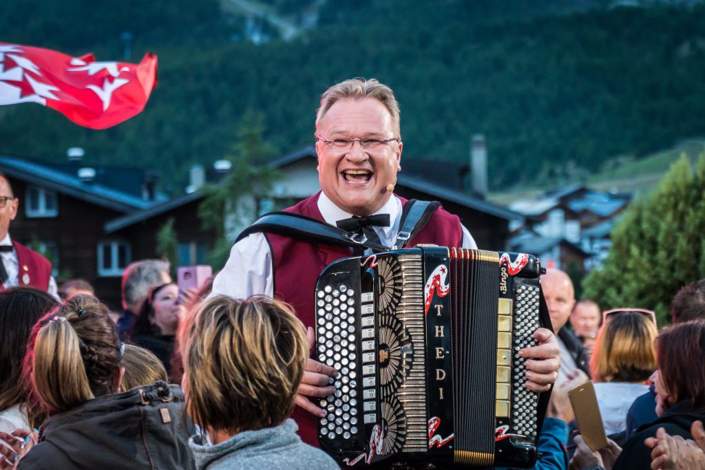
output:
{"label": "whole crowd of people including the laughing accordion player", "polygon": [[[286,212],[341,228],[343,242],[252,230],[198,292],[180,292],[167,261],[136,261],[120,312],[85,281],[57,288],[47,261],[11,240],[18,199],[0,175],[0,469],[338,468],[317,439],[343,386],[311,357],[317,277],[379,245],[477,248],[457,216],[419,215],[393,193],[399,116],[376,80],[321,97],[321,192]],[[553,390],[535,468],[705,469],[705,280],[675,295],[660,332],[647,309],[576,302],[563,271],[541,286],[556,333],[538,328],[519,351],[522,386]],[[589,377],[609,437],[599,452],[568,402]]]}

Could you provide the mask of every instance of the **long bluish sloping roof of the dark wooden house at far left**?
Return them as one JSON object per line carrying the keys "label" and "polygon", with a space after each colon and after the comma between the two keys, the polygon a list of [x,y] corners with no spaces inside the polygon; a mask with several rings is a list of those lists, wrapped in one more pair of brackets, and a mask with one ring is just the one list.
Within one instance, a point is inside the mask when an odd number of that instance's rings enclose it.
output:
{"label": "long bluish sloping roof of the dark wooden house at far left", "polygon": [[145,201],[141,197],[94,181],[87,183],[78,176],[27,159],[0,155],[0,170],[11,178],[40,185],[115,211],[130,212],[154,205],[154,201]]}

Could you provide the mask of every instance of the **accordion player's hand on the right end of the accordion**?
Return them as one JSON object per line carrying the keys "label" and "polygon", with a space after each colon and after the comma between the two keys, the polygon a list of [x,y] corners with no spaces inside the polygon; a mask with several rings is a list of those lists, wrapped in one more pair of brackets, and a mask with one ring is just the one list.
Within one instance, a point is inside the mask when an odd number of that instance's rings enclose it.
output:
{"label": "accordion player's hand on the right end of the accordion", "polygon": [[534,337],[539,341],[539,345],[525,347],[519,352],[522,357],[531,358],[526,361],[529,369],[526,387],[534,392],[546,392],[558,378],[560,367],[558,340],[556,335],[546,328],[537,329]]}

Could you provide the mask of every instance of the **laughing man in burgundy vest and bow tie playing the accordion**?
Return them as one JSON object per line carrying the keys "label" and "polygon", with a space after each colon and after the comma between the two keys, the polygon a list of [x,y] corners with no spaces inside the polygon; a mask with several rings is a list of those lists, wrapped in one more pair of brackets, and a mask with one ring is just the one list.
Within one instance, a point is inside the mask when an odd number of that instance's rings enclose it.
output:
{"label": "laughing man in burgundy vest and bow tie playing the accordion", "polygon": [[[400,171],[402,141],[399,107],[393,92],[376,80],[353,79],[328,89],[316,116],[316,151],[321,192],[287,211],[345,228],[354,223],[368,240],[392,246],[405,200],[393,194]],[[354,219],[359,217],[360,219]],[[345,230],[351,230],[345,228]],[[437,209],[407,247],[432,243],[476,248],[457,216]],[[293,305],[305,326],[314,324],[314,288],[323,269],[352,256],[349,248],[254,233],[236,243],[213,284],[213,295],[246,298],[265,294]],[[559,359],[553,333],[537,332],[540,345],[527,352],[527,387],[548,390],[556,380]],[[309,342],[313,343],[309,328]],[[318,445],[316,416],[325,416],[317,400],[336,390],[329,378],[337,371],[309,359],[293,417],[302,439]]]}

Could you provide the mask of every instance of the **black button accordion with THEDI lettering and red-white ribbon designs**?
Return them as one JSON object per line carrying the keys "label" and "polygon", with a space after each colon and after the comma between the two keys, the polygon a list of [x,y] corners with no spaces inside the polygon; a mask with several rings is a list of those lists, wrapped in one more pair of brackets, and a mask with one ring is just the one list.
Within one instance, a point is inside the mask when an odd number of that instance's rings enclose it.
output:
{"label": "black button accordion with THEDI lettering and red-white ribbon designs", "polygon": [[319,402],[321,447],[348,466],[533,466],[548,394],[525,387],[518,351],[550,325],[542,271],[528,254],[435,246],[327,266],[316,354],[340,375]]}

